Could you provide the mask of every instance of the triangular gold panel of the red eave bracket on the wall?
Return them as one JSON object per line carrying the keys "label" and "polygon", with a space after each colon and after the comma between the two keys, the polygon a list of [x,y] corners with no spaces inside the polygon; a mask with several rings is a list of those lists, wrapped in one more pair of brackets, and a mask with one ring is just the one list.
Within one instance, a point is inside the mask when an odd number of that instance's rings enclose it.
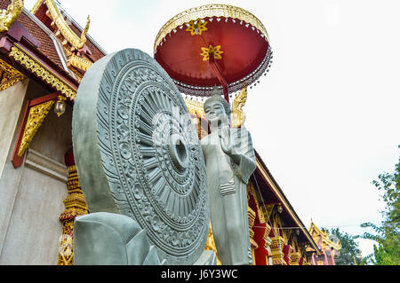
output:
{"label": "triangular gold panel of the red eave bracket on the wall", "polygon": [[53,104],[54,100],[50,100],[42,104],[39,104],[37,106],[30,107],[24,134],[20,141],[20,149],[18,151],[18,156],[22,157],[22,155],[24,155],[25,151],[28,148],[29,143],[32,141],[32,138],[35,137],[36,132],[37,130],[39,130],[40,126],[42,126],[44,118],[49,113]]}

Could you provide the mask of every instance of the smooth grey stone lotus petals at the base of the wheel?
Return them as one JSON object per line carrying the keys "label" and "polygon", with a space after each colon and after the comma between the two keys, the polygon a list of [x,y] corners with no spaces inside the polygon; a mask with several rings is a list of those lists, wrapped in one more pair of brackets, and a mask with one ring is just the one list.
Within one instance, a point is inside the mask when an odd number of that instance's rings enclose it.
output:
{"label": "smooth grey stone lotus petals at the base of the wheel", "polygon": [[160,265],[156,248],[131,217],[97,212],[76,217],[76,265]]}

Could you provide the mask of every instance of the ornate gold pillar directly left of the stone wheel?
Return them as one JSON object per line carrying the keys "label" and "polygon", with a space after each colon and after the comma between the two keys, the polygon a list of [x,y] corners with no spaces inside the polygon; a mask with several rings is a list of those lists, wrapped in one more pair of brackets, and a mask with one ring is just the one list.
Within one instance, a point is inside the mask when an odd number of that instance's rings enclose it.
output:
{"label": "ornate gold pillar directly left of the stone wheel", "polygon": [[57,265],[74,264],[74,221],[76,216],[88,214],[88,208],[76,172],[74,153],[72,149],[66,153],[65,163],[68,167],[68,196],[64,200],[65,210],[59,218],[62,223],[62,235],[60,236],[60,249]]}

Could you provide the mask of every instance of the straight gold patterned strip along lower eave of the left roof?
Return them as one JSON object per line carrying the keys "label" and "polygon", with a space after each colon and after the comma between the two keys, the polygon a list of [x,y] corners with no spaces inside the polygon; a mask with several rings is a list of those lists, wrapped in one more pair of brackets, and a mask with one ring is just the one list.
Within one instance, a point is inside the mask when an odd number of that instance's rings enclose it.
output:
{"label": "straight gold patterned strip along lower eave of the left roof", "polygon": [[41,77],[45,83],[51,85],[55,90],[60,91],[67,98],[74,100],[76,97],[76,90],[71,87],[68,83],[64,82],[62,79],[53,75],[51,71],[49,71],[46,67],[43,66],[39,61],[35,58],[31,58],[24,51],[20,50],[17,47],[12,47],[12,51],[10,52],[10,57],[20,62],[21,65],[28,68],[29,71]]}

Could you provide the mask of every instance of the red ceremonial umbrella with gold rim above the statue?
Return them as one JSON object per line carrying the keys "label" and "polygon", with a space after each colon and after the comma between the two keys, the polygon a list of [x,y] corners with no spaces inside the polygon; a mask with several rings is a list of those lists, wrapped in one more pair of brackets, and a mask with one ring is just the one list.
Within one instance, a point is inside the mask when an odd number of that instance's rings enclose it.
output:
{"label": "red ceremonial umbrella with gold rim above the statue", "polygon": [[206,97],[219,85],[227,100],[229,92],[268,71],[272,59],[260,20],[225,4],[192,8],[167,21],[156,36],[154,53],[181,92]]}

